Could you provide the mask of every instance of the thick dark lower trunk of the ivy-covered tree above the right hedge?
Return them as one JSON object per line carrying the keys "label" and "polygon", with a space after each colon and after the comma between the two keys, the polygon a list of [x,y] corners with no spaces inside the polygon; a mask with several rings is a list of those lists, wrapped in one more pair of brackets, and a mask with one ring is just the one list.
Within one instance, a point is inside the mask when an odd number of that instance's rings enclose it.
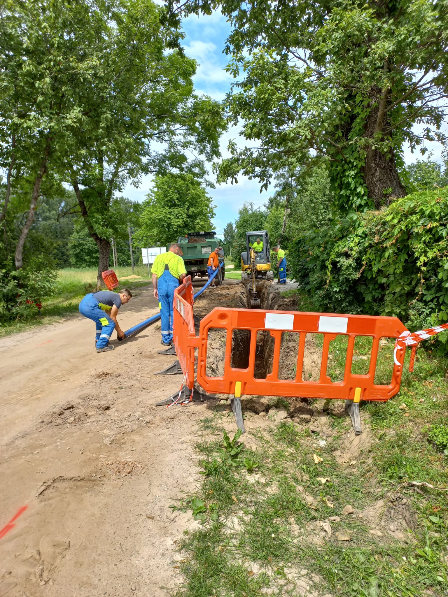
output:
{"label": "thick dark lower trunk of the ivy-covered tree above the right hedge", "polygon": [[369,191],[369,198],[373,199],[377,210],[383,205],[389,205],[392,199],[406,196],[392,150],[389,154],[371,149],[367,151],[364,182]]}

